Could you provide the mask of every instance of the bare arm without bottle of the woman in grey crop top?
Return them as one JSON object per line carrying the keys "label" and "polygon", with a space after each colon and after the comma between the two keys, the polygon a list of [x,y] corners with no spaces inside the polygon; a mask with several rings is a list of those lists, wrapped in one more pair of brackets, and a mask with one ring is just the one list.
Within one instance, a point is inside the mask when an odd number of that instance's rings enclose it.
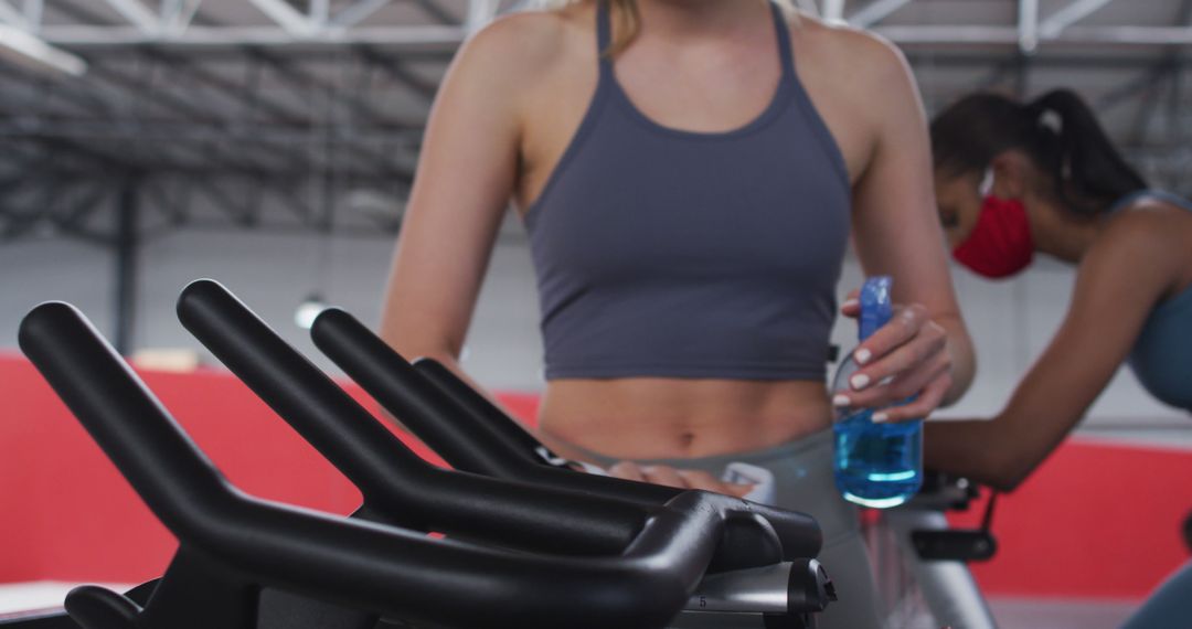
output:
{"label": "bare arm without bottle of the woman in grey crop top", "polygon": [[452,63],[427,124],[384,298],[381,337],[464,378],[459,354],[516,180],[517,98],[533,69],[522,45],[526,21],[498,20]]}

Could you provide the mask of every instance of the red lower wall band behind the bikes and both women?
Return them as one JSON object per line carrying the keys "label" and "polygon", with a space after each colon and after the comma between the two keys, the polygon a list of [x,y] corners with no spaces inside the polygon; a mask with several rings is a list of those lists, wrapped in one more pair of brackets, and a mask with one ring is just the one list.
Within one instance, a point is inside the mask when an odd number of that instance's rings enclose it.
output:
{"label": "red lower wall band behind the bikes and both women", "polygon": [[[359,492],[235,378],[142,375],[244,491],[335,513],[359,503]],[[174,541],[27,362],[0,356],[0,583],[160,574]],[[502,401],[524,418],[538,404],[532,394]],[[975,567],[977,579],[994,594],[1144,596],[1187,556],[1179,531],[1192,509],[1190,472],[1188,451],[1064,444],[999,499],[1000,552]],[[955,521],[975,524],[977,506]]]}

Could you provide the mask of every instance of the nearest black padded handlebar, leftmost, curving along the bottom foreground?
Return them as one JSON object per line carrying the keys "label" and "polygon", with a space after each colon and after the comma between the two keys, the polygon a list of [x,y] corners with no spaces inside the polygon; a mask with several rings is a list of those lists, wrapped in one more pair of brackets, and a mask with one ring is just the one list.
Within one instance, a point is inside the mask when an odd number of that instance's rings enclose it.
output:
{"label": "nearest black padded handlebar, leftmost, curving along the bottom foreground", "polygon": [[434,541],[279,505],[230,486],[73,306],[36,307],[18,338],[184,550],[263,584],[395,617],[479,628],[662,627],[703,575],[731,504],[685,492],[654,512],[621,556],[583,559]]}

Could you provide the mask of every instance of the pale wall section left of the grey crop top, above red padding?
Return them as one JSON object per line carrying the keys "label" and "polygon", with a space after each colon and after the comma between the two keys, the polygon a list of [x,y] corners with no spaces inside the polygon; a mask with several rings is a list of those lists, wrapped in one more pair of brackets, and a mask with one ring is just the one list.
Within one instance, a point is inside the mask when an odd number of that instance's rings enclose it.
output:
{"label": "pale wall section left of the grey crop top, above red padding", "polygon": [[[490,264],[466,363],[489,386],[533,390],[540,384],[536,297],[520,225],[510,222]],[[212,278],[231,289],[290,343],[335,372],[293,323],[312,292],[374,326],[393,243],[384,237],[322,238],[234,229],[181,230],[148,241],[139,255],[134,349],[193,348],[217,361],[174,314],[187,282]],[[79,306],[110,338],[114,334],[114,260],[100,248],[56,236],[0,243],[0,351],[15,351],[20,318],[49,299]]]}

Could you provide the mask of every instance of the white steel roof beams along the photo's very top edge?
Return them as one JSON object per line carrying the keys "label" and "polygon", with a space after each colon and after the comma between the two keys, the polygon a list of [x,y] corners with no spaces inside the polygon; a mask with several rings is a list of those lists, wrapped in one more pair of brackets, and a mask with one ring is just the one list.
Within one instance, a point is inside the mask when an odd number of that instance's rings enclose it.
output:
{"label": "white steel roof beams along the photo's very top edge", "polygon": [[[454,49],[471,32],[488,24],[504,8],[522,2],[468,0],[464,15],[455,15],[436,0],[356,0],[331,11],[328,0],[249,0],[271,26],[194,24],[201,0],[103,0],[123,24],[44,24],[41,1],[26,2],[19,11],[10,0],[0,0],[0,21],[38,35],[45,43],[69,49],[111,48],[136,44],[176,46],[311,46],[368,44],[401,49]],[[919,0],[921,1],[921,0]],[[1186,26],[1111,25],[1080,23],[1115,0],[1069,0],[1049,15],[1039,13],[1039,0],[1016,0],[1016,24],[884,24],[890,15],[915,0],[796,0],[811,13],[834,21],[871,27],[894,43],[906,46],[1018,46],[1024,52],[1066,45],[1167,46],[1192,45],[1192,29]],[[1126,0],[1116,0],[1124,2]],[[430,24],[387,24],[374,18],[391,4],[412,4]],[[300,8],[303,7],[304,8]],[[36,8],[36,11],[35,11]]]}

